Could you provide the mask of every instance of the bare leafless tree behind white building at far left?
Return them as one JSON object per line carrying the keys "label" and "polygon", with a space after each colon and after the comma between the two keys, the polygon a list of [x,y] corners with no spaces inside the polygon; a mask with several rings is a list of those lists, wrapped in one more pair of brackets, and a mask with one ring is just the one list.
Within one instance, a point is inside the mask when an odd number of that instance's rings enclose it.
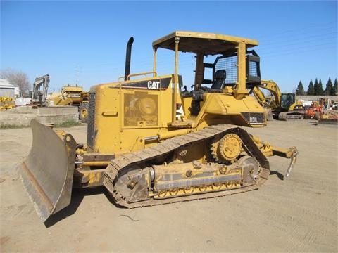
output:
{"label": "bare leafless tree behind white building at far left", "polygon": [[0,70],[0,78],[7,79],[8,82],[14,86],[18,86],[21,96],[28,96],[30,91],[30,82],[26,73],[20,70],[8,68],[6,70]]}

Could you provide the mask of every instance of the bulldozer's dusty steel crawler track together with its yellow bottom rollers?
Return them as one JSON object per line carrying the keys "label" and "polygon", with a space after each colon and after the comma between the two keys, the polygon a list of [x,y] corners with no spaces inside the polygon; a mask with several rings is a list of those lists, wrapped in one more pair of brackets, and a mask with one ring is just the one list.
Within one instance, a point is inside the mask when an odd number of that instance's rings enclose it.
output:
{"label": "bulldozer's dusty steel crawler track together with its yellow bottom rollers", "polygon": [[[187,190],[187,194],[179,195],[177,188],[173,188],[161,193],[150,193],[146,199],[140,197],[133,198],[133,201],[127,200],[123,193],[119,193],[116,186],[123,180],[123,175],[130,173],[137,173],[136,171],[142,171],[141,168],[149,167],[149,164],[154,164],[154,161],[158,157],[164,157],[169,153],[173,153],[177,150],[188,148],[189,145],[199,144],[204,142],[211,143],[214,139],[222,138],[225,134],[236,134],[242,140],[242,148],[246,152],[247,156],[253,157],[259,164],[257,169],[257,176],[252,183],[243,184],[238,176],[230,176],[226,183],[223,183],[223,187],[211,183],[211,185],[192,186]],[[145,165],[146,164],[146,165]],[[180,166],[180,164],[178,164]],[[142,173],[142,172],[140,172]],[[224,195],[230,195],[234,193],[242,193],[249,190],[255,190],[261,186],[270,174],[269,162],[265,155],[259,150],[258,146],[253,142],[249,134],[242,128],[233,127],[231,125],[216,125],[208,126],[200,131],[192,132],[184,136],[177,136],[170,138],[158,145],[154,145],[151,148],[139,150],[134,153],[128,153],[121,155],[114,160],[111,160],[106,172],[104,173],[104,186],[113,196],[113,200],[116,204],[127,207],[145,207],[152,205],[164,205],[173,202],[184,202],[189,200],[200,200],[209,197],[220,197]],[[154,187],[154,184],[152,185]],[[194,193],[194,188],[198,194]],[[182,193],[182,189],[180,189]],[[185,190],[183,189],[183,193]]]}

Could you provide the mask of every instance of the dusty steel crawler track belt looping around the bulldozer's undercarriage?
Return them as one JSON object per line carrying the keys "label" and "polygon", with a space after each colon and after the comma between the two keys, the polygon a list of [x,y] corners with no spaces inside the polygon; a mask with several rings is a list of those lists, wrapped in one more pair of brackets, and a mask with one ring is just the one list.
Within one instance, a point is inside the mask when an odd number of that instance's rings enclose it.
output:
{"label": "dusty steel crawler track belt looping around the bulldozer's undercarriage", "polygon": [[[213,138],[220,138],[221,136],[229,133],[237,134],[242,140],[242,145],[247,155],[254,157],[258,161],[260,171],[258,174],[258,178],[256,179],[256,183],[254,183],[253,185],[241,188],[232,188],[230,190],[215,190],[212,192],[199,193],[196,195],[183,195],[180,197],[170,197],[163,199],[151,197],[148,200],[142,200],[132,203],[125,201],[125,199],[123,198],[117,200],[114,197],[116,195],[114,183],[119,180],[119,175],[122,175],[124,171],[126,171],[127,169],[130,171],[130,167],[137,168],[138,165],[141,166],[143,164],[151,164],[152,160],[156,160],[156,158],[158,157],[168,155],[168,153],[173,152],[179,148],[184,148],[199,142],[202,143],[204,141],[211,141]],[[216,125],[206,127],[201,131],[196,131],[194,133],[190,133],[184,136],[170,138],[151,148],[146,148],[144,150],[139,150],[134,153],[121,155],[120,157],[111,160],[111,163],[108,165],[107,171],[104,174],[104,186],[106,186],[108,191],[113,196],[114,201],[118,205],[122,205],[127,208],[134,208],[152,205],[164,205],[168,203],[183,202],[189,200],[199,200],[209,197],[220,197],[224,195],[255,190],[268,179],[269,174],[270,168],[268,160],[266,159],[265,155],[261,153],[261,150],[259,150],[257,145],[253,142],[249,134],[244,131],[244,129],[241,129],[239,127],[232,127],[231,125]]]}

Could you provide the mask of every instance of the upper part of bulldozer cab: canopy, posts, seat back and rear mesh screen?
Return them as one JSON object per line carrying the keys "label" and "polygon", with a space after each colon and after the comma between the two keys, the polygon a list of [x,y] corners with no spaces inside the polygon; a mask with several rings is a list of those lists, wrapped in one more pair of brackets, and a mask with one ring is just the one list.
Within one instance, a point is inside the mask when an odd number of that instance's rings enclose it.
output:
{"label": "upper part of bulldozer cab: canopy, posts, seat back and rear mesh screen", "polygon": [[[246,94],[248,89],[261,82],[259,56],[255,51],[249,51],[249,48],[257,45],[258,41],[253,39],[223,34],[173,32],[153,42],[154,72],[157,67],[158,48],[175,51],[176,81],[178,80],[179,52],[192,53],[194,59],[196,58],[193,70],[194,83],[192,84],[194,91],[223,93],[233,91]],[[212,62],[207,62],[210,58]]]}

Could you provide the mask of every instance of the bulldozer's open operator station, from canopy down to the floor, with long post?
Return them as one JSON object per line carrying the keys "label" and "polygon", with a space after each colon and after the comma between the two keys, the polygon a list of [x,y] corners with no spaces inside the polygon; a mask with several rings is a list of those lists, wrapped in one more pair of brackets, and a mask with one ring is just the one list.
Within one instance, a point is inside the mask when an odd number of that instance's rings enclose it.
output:
{"label": "bulldozer's open operator station, from canopy down to the floor, with long post", "polygon": [[[223,96],[232,96],[236,100],[242,100],[244,96],[249,95],[249,89],[261,82],[259,57],[250,49],[257,45],[258,41],[253,39],[182,31],[173,32],[154,41],[154,77],[158,73],[158,48],[175,52],[172,88],[176,96],[173,96],[173,122],[176,120],[176,110],[182,103],[185,103],[184,108],[191,112],[190,115],[198,115],[208,93],[221,93]],[[184,91],[180,91],[183,85],[179,82],[179,60],[189,54],[193,56],[189,56],[190,60],[194,60],[193,65],[189,64],[189,66],[194,66],[194,70],[185,71],[188,67],[185,61],[182,70],[187,74],[194,72],[194,77],[189,80],[192,91],[187,91],[187,86],[184,86]],[[180,72],[184,78],[187,78],[185,73]],[[192,98],[192,100],[185,99],[183,102],[182,98]],[[188,103],[189,106],[186,106]]]}

